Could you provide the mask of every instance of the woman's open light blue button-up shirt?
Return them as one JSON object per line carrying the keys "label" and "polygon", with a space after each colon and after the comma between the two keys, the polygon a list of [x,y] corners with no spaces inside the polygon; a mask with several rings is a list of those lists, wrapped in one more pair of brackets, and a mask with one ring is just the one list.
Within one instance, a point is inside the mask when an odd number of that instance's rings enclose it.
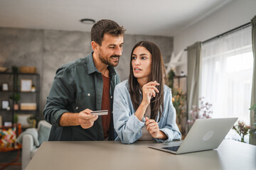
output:
{"label": "woman's open light blue button-up shirt", "polygon": [[[138,91],[139,93],[139,91]],[[171,89],[164,85],[164,111],[159,121],[159,129],[166,134],[167,140],[156,139],[156,142],[169,142],[171,140],[181,140],[181,132],[176,125],[176,111],[171,101]],[[129,95],[128,80],[117,84],[114,89],[113,118],[114,130],[118,137],[115,140],[130,144],[142,137],[142,128],[145,125],[145,119],[140,121],[134,115],[134,107]],[[157,120],[159,115],[157,116]]]}

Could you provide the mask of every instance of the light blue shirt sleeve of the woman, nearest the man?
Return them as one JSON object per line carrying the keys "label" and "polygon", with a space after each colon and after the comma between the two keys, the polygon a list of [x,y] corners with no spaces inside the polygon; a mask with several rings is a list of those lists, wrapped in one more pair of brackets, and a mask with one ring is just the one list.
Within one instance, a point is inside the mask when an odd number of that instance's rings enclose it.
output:
{"label": "light blue shirt sleeve of the woman, nearest the man", "polygon": [[114,130],[122,143],[130,144],[142,137],[145,120],[140,121],[134,113],[131,113],[123,94],[124,91],[117,85],[114,89],[113,103]]}

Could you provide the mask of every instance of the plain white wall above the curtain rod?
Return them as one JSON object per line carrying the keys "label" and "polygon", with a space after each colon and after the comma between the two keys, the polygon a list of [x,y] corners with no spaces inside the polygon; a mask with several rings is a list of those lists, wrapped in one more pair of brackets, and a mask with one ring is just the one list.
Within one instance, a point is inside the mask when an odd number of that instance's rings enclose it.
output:
{"label": "plain white wall above the curtain rod", "polygon": [[[193,45],[194,42],[208,40],[228,30],[249,23],[255,15],[256,0],[231,1],[223,8],[210,14],[210,16],[175,35],[174,52],[177,54],[180,50]],[[183,53],[181,60],[186,62],[186,52]],[[177,73],[181,70],[186,73],[186,64],[176,69]]]}

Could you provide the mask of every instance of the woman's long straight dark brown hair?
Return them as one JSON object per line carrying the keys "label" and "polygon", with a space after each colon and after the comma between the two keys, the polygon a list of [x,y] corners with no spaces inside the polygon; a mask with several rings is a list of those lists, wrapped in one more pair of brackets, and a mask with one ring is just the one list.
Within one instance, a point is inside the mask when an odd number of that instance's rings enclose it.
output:
{"label": "woman's long straight dark brown hair", "polygon": [[[151,74],[149,75],[149,81],[157,81],[160,85],[156,86],[159,90],[159,93],[156,93],[156,97],[151,98],[151,119],[156,120],[159,113],[159,120],[161,119],[162,111],[164,109],[164,84],[166,82],[166,69],[164,67],[164,62],[161,56],[159,47],[153,42],[149,41],[140,41],[132,49],[132,54],[136,47],[142,46],[145,47],[151,53]],[[141,99],[139,98],[139,83],[137,78],[134,77],[132,69],[132,54],[130,62],[130,73],[129,73],[129,94],[132,99],[132,104],[134,110],[136,111],[139,108]]]}

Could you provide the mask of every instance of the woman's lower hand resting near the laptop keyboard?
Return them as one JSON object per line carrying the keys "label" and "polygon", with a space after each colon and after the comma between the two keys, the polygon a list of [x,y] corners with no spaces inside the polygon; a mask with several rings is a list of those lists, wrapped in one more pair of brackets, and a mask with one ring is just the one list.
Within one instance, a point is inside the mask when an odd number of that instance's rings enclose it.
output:
{"label": "woman's lower hand resting near the laptop keyboard", "polygon": [[157,139],[162,139],[162,140],[167,139],[167,136],[165,135],[165,133],[159,130],[159,125],[154,119],[149,119],[147,117],[145,119],[146,119],[146,130],[149,131],[149,134],[152,137]]}

